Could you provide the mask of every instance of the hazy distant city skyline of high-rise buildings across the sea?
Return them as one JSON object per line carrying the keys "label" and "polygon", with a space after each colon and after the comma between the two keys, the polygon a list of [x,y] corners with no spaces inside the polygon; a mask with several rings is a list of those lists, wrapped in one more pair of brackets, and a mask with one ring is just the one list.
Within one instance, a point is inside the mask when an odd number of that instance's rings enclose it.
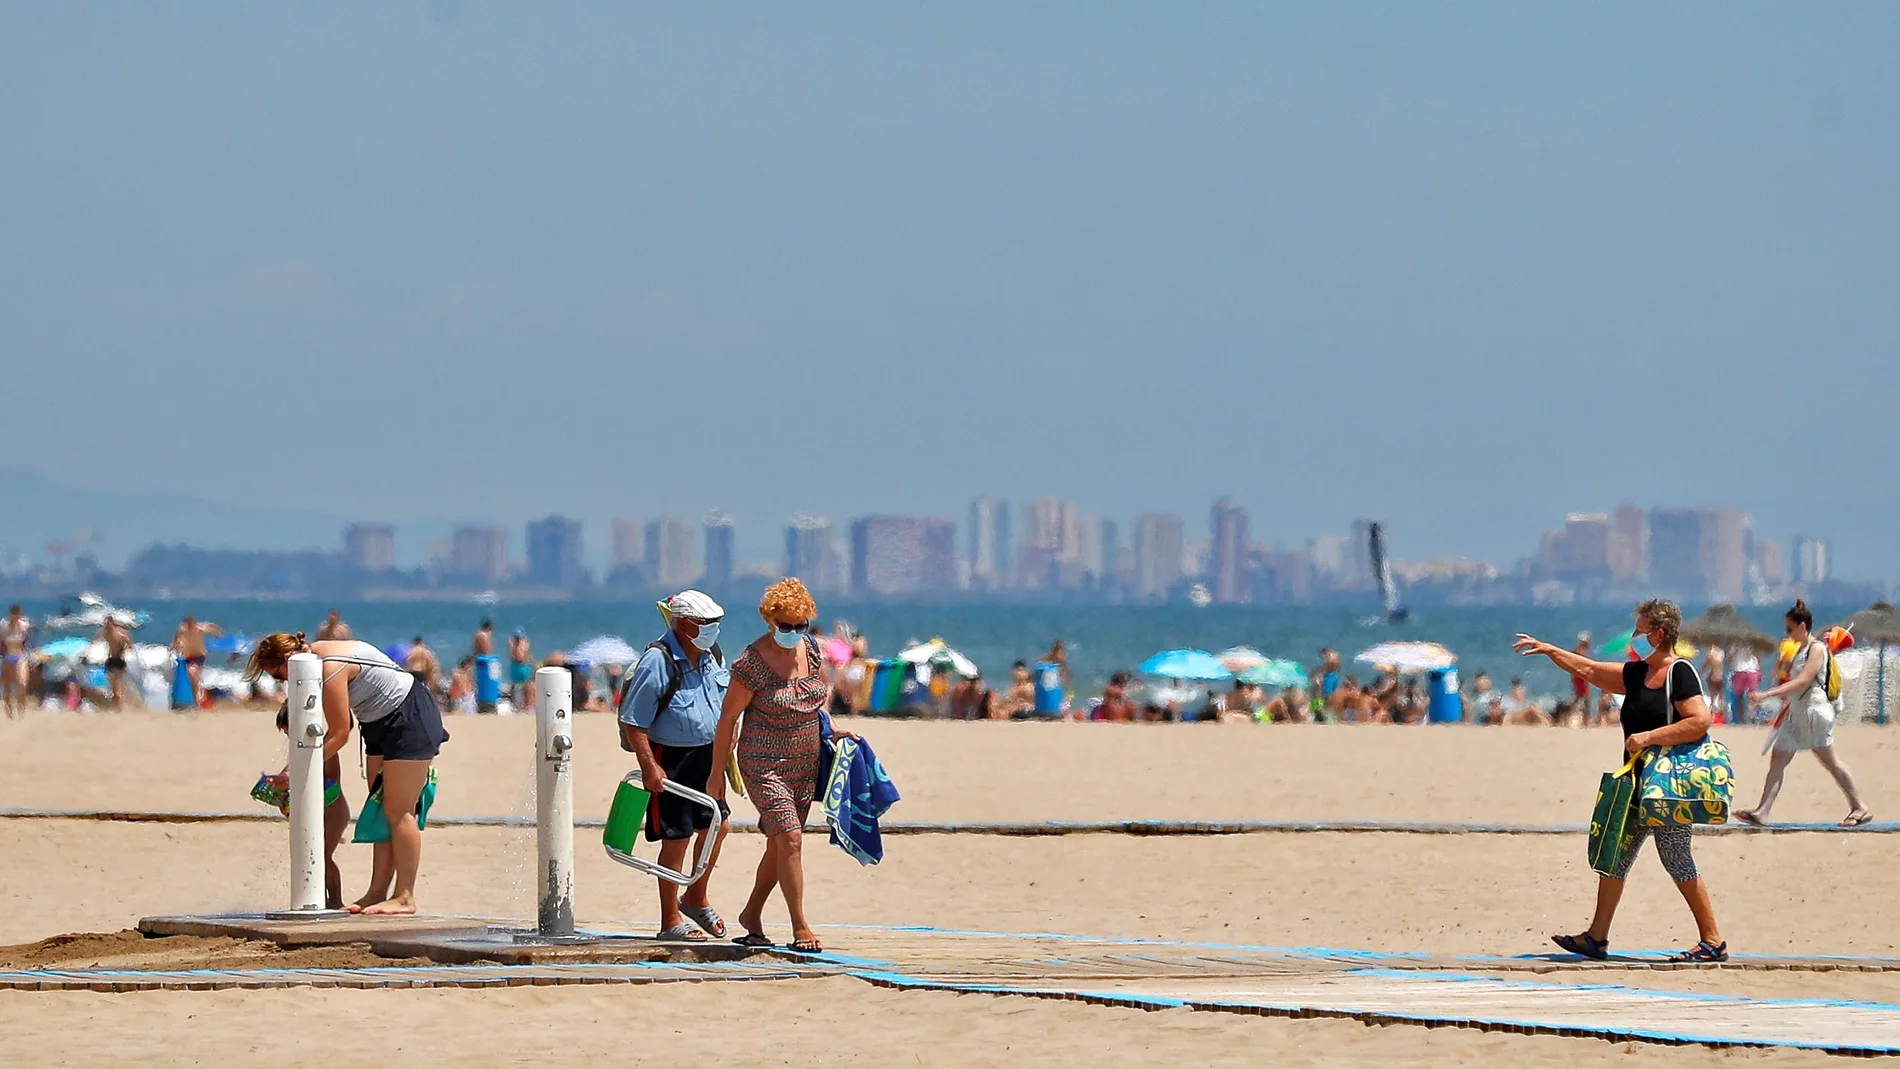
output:
{"label": "hazy distant city skyline of high-rise buildings across the sea", "polygon": [[[209,553],[200,547],[141,551],[114,572],[87,554],[53,554],[34,568],[0,568],[15,589],[57,587],[68,575],[144,587],[200,585],[230,594],[306,589],[314,583],[374,589],[515,589],[570,594],[732,591],[798,573],[821,594],[904,600],[1100,600],[1161,604],[1328,604],[1368,596],[1376,587],[1370,534],[1381,526],[1400,598],[1450,604],[1596,604],[1662,592],[1687,602],[1765,604],[1803,591],[1839,587],[1826,537],[1758,534],[1748,513],[1729,507],[1619,505],[1568,513],[1533,553],[1510,562],[1465,554],[1406,554],[1402,526],[1360,518],[1345,534],[1320,532],[1275,543],[1250,535],[1252,513],[1218,497],[1205,537],[1180,515],[1142,513],[1123,524],[1083,513],[1064,497],[1011,503],[986,494],[948,516],[864,515],[832,522],[794,515],[779,528],[773,556],[741,556],[739,522],[709,511],[608,524],[608,568],[589,560],[587,522],[559,513],[522,528],[521,554],[505,526],[458,524],[429,541],[420,568],[397,560],[393,522],[352,522],[340,549]],[[595,535],[598,539],[598,535]],[[171,570],[171,572],[167,572]],[[1860,585],[1866,587],[1866,585]],[[1885,587],[1875,583],[1873,587]]]}

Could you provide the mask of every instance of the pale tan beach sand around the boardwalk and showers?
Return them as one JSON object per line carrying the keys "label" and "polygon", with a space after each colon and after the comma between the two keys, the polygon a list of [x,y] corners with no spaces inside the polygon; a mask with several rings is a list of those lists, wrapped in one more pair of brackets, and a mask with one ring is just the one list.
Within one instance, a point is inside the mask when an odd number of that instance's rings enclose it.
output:
{"label": "pale tan beach sand around the boardwalk and showers", "polygon": [[[1617,735],[1568,729],[859,723],[904,792],[904,820],[1087,818],[1381,818],[1577,822]],[[1752,801],[1765,760],[1754,729],[1718,729]],[[450,722],[443,813],[532,813],[532,722]],[[1841,731],[1879,815],[1900,775],[1900,746],[1881,729]],[[262,809],[245,792],[283,763],[264,714],[180,718],[53,716],[0,723],[0,805],[104,809]],[[142,771],[154,756],[158,773]],[[606,716],[580,718],[578,811],[604,815],[631,758]],[[353,765],[353,761],[352,761]],[[353,767],[352,767],[353,773]],[[361,801],[361,780],[346,775]],[[739,807],[741,815],[743,805]],[[1811,758],[1790,773],[1778,818],[1832,820],[1845,811]],[[652,881],[608,862],[578,834],[583,923],[652,925]],[[422,904],[429,911],[532,913],[530,828],[428,832]],[[1326,946],[1427,953],[1539,953],[1556,930],[1585,925],[1592,877],[1579,835],[1275,834],[1233,837],[904,835],[887,860],[859,868],[813,841],[813,921],[830,949],[876,934],[849,925],[931,925],[988,932],[1074,932],[1250,946]],[[714,902],[737,911],[758,856],[735,835]],[[367,851],[344,847],[346,889]],[[1900,875],[1887,835],[1712,835],[1697,841],[1723,932],[1756,953],[1900,955]],[[141,915],[260,910],[281,904],[281,824],[131,824],[0,820],[0,946],[63,932],[103,932],[51,957],[139,965],[245,963],[249,944],[158,946],[114,938]],[[785,938],[783,908],[768,913]],[[1687,913],[1653,856],[1638,862],[1617,925],[1619,949],[1693,940]],[[167,940],[169,942],[169,940]],[[190,946],[188,946],[190,944]],[[11,951],[15,959],[32,951]],[[312,957],[312,965],[346,965]],[[118,957],[114,957],[118,955]],[[0,951],[0,963],[8,953]],[[30,965],[15,961],[15,965]],[[1545,980],[1604,980],[1566,970]],[[1619,970],[1615,982],[1759,997],[1900,1001],[1890,974]],[[1634,978],[1634,980],[1632,980]],[[709,1010],[716,1001],[716,1010]],[[714,1012],[728,1023],[694,1027]],[[1471,1065],[1814,1061],[1805,1052],[1720,1052],[1349,1022],[1256,1020],[1188,1010],[1047,1003],[1018,997],[887,991],[857,980],[560,987],[502,991],[0,991],[0,1046],[11,1063],[152,1060],[224,1065],[277,1060],[285,1023],[327,1029],[325,1048],[361,1063],[401,1046],[471,1065],[555,1063],[638,1054],[638,1061],[720,1065],[960,1063],[1393,1063]],[[654,1022],[659,1022],[657,1025]]]}

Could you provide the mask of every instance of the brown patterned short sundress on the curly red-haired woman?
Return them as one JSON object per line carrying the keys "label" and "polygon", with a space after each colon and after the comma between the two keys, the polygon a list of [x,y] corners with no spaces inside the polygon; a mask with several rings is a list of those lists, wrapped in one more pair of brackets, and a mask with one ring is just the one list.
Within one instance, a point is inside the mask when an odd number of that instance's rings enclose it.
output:
{"label": "brown patterned short sundress on the curly red-haired woman", "polygon": [[758,807],[758,830],[781,835],[804,828],[819,778],[819,710],[825,708],[825,663],[806,640],[809,674],[787,680],[750,646],[733,663],[735,680],[752,689],[739,723],[739,775]]}

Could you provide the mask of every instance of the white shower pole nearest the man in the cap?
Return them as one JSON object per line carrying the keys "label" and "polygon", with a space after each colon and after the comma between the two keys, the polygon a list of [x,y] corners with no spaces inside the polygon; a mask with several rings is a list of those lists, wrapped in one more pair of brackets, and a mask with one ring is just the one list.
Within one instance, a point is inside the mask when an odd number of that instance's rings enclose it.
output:
{"label": "white shower pole nearest the man in the cap", "polygon": [[536,934],[574,934],[574,676],[534,672]]}

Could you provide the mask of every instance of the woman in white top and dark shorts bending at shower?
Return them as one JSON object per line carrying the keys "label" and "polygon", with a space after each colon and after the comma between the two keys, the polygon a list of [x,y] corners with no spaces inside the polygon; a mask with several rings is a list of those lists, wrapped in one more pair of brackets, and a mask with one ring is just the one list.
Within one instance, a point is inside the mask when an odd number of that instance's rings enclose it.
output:
{"label": "woman in white top and dark shorts bending at shower", "polygon": [[[390,661],[369,642],[304,642],[304,632],[266,634],[251,653],[249,676],[289,678],[293,653],[323,659],[323,760],[350,742],[352,718],[363,729],[363,773],[370,794],[382,780],[382,809],[390,816],[390,841],[374,845],[369,891],[350,904],[352,913],[414,913],[416,872],[422,868],[422,830],[416,803],[429,782],[429,765],[448,733],[429,687]],[[391,889],[391,879],[395,887]]]}

